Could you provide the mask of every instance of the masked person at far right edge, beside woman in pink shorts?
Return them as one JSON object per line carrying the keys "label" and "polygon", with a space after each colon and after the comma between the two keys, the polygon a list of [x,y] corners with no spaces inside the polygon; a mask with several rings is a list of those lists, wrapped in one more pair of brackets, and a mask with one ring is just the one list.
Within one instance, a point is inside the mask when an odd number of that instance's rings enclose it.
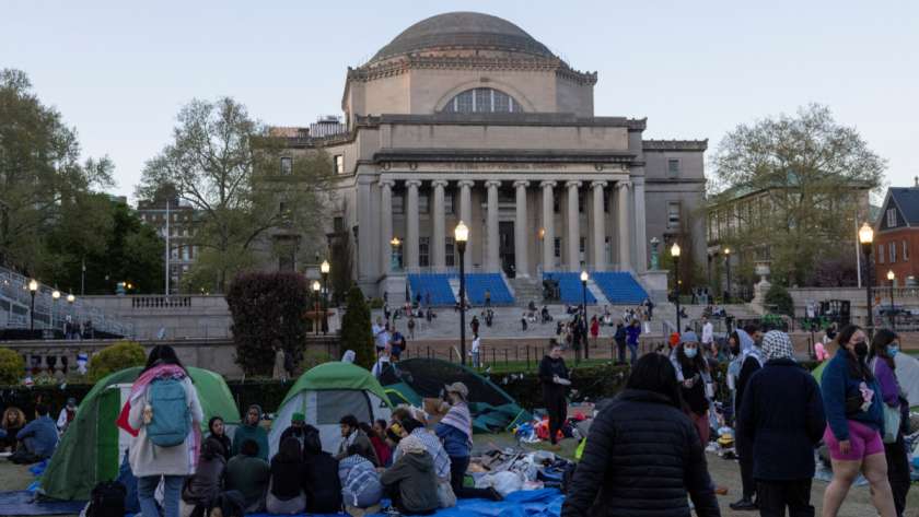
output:
{"label": "masked person at far right edge, beside woman in pink shorts", "polygon": [[[909,402],[903,396],[897,381],[894,359],[899,353],[899,336],[888,329],[874,332],[869,353],[869,366],[881,385],[881,399],[884,401],[884,412],[899,415],[900,425],[888,430],[885,425],[884,455],[887,458],[887,481],[894,494],[894,506],[897,515],[903,515],[906,508],[906,494],[909,493],[909,459],[906,456],[904,433],[909,427]],[[885,423],[894,419],[885,419]],[[905,428],[906,427],[906,428]]]}

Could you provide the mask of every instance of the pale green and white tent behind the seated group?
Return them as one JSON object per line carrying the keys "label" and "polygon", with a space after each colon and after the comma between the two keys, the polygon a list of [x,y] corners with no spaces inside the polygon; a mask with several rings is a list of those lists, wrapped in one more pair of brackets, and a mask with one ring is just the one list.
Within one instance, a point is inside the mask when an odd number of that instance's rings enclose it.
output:
{"label": "pale green and white tent behind the seated group", "polygon": [[293,413],[303,413],[306,423],[319,430],[324,450],[337,453],[341,443],[338,422],[342,416],[353,414],[359,422],[387,420],[391,406],[370,372],[351,363],[330,362],[301,375],[288,391],[268,433],[272,455]]}

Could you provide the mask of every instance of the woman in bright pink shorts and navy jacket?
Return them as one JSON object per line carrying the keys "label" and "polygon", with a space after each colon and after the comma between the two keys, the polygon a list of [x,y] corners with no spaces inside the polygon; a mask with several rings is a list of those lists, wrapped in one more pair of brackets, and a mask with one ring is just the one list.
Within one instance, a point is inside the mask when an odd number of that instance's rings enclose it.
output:
{"label": "woman in bright pink shorts and navy jacket", "polygon": [[833,481],[824,492],[823,515],[835,517],[861,471],[871,485],[871,498],[881,517],[895,517],[884,456],[884,412],[881,385],[868,366],[864,331],[850,325],[836,337],[839,349],[821,379]]}

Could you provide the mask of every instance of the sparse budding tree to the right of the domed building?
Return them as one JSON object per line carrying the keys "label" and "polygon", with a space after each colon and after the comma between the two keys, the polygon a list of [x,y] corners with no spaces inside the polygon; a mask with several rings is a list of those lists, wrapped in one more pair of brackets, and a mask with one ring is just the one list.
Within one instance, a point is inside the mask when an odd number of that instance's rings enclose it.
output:
{"label": "sparse budding tree to the right of the domed building", "polygon": [[881,186],[885,162],[829,108],[809,105],[741,125],[714,156],[712,204],[738,192],[765,192],[737,205],[725,244],[771,260],[772,277],[803,284],[824,250],[852,243],[854,218],[866,216],[868,191]]}

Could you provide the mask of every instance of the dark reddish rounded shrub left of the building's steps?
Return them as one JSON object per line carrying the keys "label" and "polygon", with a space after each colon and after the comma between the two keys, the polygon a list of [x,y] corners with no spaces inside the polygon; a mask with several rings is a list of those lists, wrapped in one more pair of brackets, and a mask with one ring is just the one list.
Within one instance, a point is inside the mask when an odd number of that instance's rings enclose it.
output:
{"label": "dark reddish rounded shrub left of the building's steps", "polygon": [[275,342],[300,363],[306,339],[304,314],[310,291],[302,274],[286,271],[237,275],[230,284],[226,304],[233,317],[236,363],[246,375],[269,375],[275,364]]}

